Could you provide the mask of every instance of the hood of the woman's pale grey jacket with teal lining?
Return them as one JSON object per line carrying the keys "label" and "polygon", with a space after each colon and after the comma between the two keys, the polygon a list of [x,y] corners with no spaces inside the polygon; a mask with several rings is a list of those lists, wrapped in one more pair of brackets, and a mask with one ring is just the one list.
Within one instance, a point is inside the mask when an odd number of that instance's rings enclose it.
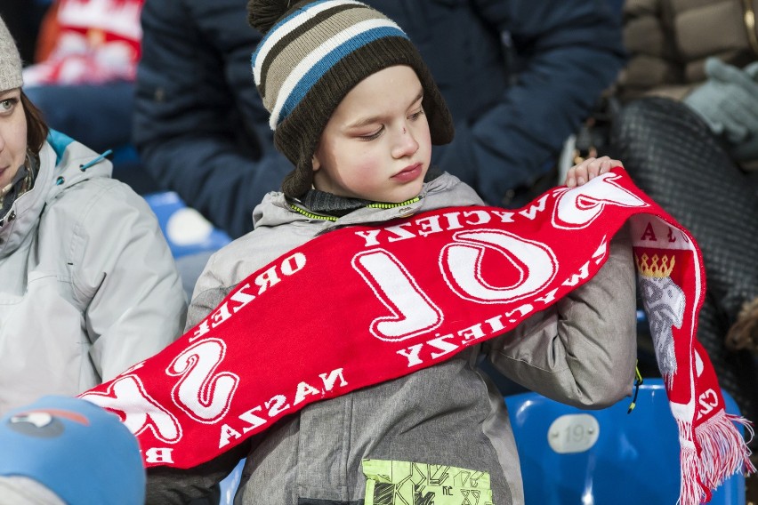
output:
{"label": "hood of the woman's pale grey jacket with teal lining", "polygon": [[31,236],[46,204],[84,180],[110,177],[112,170],[113,165],[104,155],[51,130],[39,152],[39,172],[34,186],[0,216],[0,259]]}

